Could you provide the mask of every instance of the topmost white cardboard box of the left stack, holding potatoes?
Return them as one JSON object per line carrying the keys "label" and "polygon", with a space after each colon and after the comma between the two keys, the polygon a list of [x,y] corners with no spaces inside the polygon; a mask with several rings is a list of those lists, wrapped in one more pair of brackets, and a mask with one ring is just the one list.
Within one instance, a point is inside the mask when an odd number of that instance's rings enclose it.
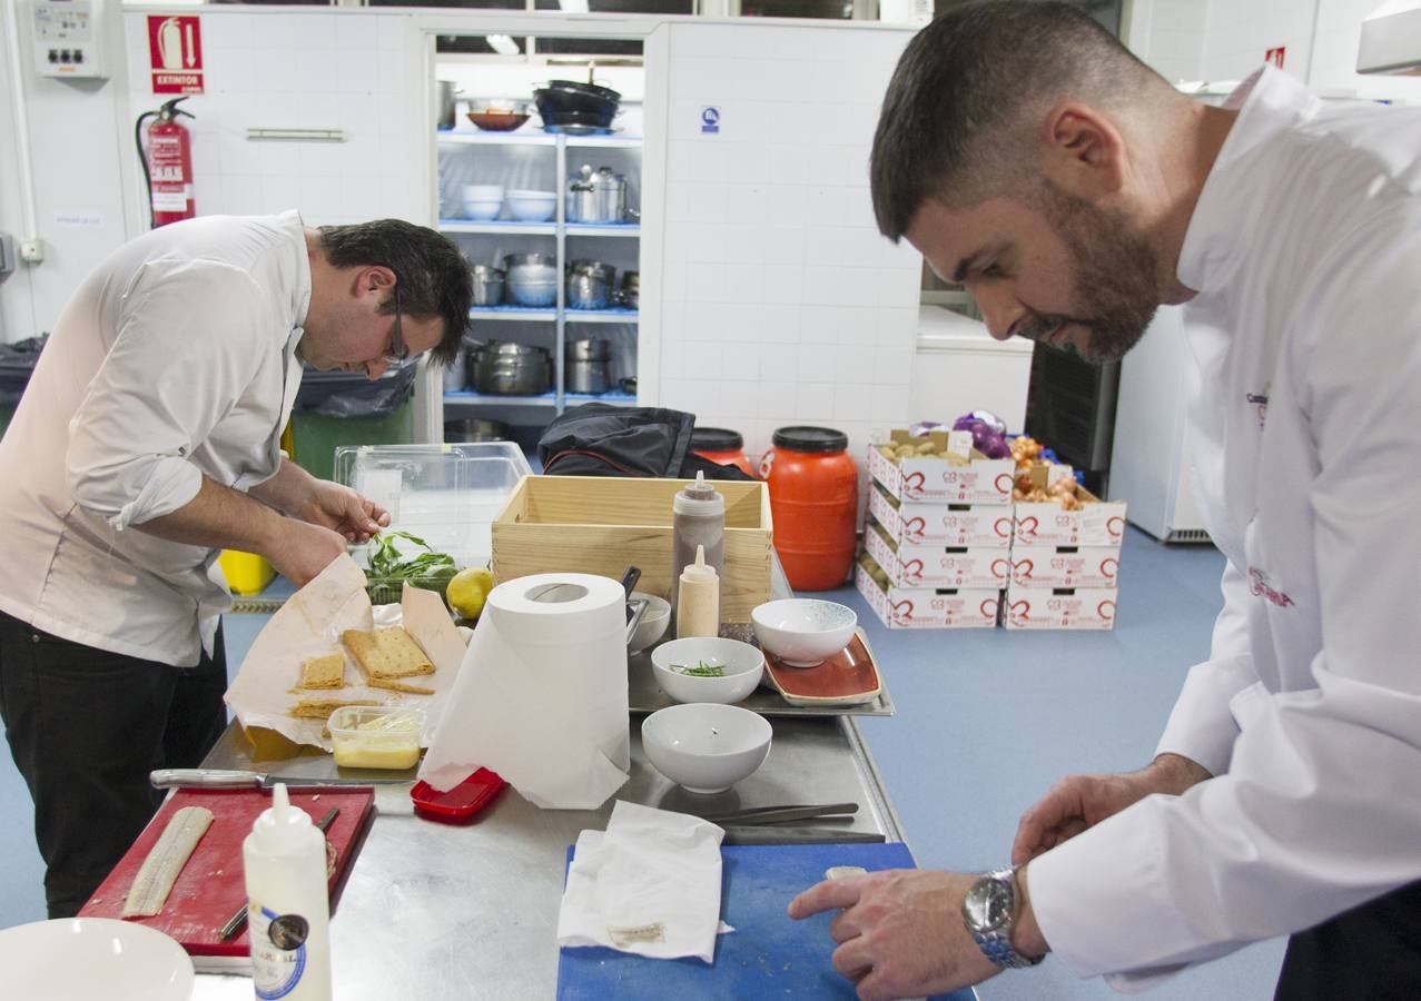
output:
{"label": "topmost white cardboard box of the left stack, holding potatoes", "polygon": [[971,459],[955,454],[891,459],[884,447],[897,444],[946,447],[946,434],[934,432],[914,437],[894,430],[887,442],[868,447],[868,473],[897,500],[935,501],[939,504],[1010,504],[1012,459],[988,459],[973,452]]}

